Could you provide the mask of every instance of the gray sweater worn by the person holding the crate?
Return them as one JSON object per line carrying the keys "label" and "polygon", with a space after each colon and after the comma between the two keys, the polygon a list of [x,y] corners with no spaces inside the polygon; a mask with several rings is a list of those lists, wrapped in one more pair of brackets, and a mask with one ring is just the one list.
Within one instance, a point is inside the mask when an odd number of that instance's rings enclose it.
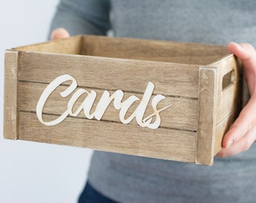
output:
{"label": "gray sweater worn by the person holding the crate", "polygon": [[[256,47],[255,17],[254,0],[62,0],[51,30]],[[89,181],[120,202],[256,202],[256,146],[211,167],[96,151]]]}

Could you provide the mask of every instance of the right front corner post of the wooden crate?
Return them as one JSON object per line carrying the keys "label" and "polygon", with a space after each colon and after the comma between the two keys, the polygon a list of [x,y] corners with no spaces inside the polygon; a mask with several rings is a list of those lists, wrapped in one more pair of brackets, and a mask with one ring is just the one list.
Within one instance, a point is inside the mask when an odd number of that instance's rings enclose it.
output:
{"label": "right front corner post of the wooden crate", "polygon": [[213,165],[217,68],[200,67],[196,163]]}

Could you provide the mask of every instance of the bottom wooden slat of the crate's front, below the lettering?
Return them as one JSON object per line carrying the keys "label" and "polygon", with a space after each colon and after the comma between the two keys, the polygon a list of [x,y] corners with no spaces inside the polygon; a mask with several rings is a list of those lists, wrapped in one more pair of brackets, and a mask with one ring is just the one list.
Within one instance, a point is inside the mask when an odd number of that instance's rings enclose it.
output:
{"label": "bottom wooden slat of the crate's front, below the lettering", "polygon": [[[51,117],[51,116],[48,116]],[[40,129],[40,130],[38,130]],[[32,113],[20,113],[20,139],[87,147],[181,162],[195,162],[196,134],[170,129],[67,118],[54,127],[44,126]]]}

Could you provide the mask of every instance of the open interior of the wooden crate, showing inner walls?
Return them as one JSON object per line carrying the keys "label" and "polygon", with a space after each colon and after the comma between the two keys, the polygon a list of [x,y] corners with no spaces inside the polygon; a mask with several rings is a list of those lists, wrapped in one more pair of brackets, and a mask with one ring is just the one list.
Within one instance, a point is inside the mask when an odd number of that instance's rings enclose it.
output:
{"label": "open interior of the wooden crate, showing inner walls", "polygon": [[209,65],[229,54],[227,47],[172,41],[78,35],[16,50]]}

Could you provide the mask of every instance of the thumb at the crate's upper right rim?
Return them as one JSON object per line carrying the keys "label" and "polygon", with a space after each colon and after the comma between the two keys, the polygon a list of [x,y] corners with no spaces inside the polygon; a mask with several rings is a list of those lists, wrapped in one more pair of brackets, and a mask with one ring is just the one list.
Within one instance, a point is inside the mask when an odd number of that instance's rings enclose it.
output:
{"label": "thumb at the crate's upper right rim", "polygon": [[251,44],[236,44],[230,42],[228,44],[230,53],[235,54],[239,59],[242,60],[245,70],[245,78],[248,83],[249,91],[252,94],[256,92],[256,51]]}

